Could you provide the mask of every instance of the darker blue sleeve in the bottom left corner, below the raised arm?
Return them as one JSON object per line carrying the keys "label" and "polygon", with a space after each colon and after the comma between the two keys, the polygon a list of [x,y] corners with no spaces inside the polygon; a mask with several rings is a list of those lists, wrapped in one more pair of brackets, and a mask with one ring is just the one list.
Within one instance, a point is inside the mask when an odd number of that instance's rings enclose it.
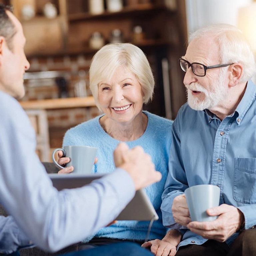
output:
{"label": "darker blue sleeve in the bottom left corner, below the raised arm", "polygon": [[19,247],[32,242],[19,229],[12,216],[0,216],[0,254],[15,252]]}

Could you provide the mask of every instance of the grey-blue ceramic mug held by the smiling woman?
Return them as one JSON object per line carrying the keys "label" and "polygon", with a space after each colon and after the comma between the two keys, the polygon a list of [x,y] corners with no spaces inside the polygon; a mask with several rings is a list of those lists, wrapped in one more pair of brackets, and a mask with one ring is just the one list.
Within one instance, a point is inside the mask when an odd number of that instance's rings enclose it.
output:
{"label": "grey-blue ceramic mug held by the smiling woman", "polygon": [[63,156],[70,158],[70,162],[66,164],[66,167],[73,166],[74,170],[72,173],[90,174],[92,172],[97,148],[86,146],[64,146],[63,148],[56,148],[52,152],[52,161],[58,168],[64,169],[65,167],[59,165],[54,158],[55,152],[58,150],[63,152]]}

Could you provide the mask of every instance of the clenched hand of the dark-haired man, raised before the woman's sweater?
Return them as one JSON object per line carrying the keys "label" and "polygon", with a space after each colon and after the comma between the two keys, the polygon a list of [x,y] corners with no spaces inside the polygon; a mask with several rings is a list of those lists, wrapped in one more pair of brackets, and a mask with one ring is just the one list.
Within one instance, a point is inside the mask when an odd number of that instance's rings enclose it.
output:
{"label": "clenched hand of the dark-haired man, raised before the woman's sweater", "polygon": [[129,150],[127,144],[118,144],[114,151],[114,161],[116,167],[130,174],[136,190],[147,187],[162,178],[161,173],[155,170],[150,155],[146,154],[140,146]]}

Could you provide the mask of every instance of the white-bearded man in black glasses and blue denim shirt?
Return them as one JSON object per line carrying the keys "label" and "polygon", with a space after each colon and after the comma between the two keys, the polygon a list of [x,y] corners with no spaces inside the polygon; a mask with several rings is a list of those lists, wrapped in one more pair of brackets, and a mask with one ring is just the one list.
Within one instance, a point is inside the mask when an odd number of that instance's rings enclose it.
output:
{"label": "white-bearded man in black glasses and blue denim shirt", "polygon": [[[172,126],[163,224],[179,229],[181,255],[256,255],[255,61],[241,31],[211,25],[190,36],[185,56],[188,102]],[[184,190],[219,186],[212,222],[191,222]],[[234,242],[235,241],[235,242]]]}

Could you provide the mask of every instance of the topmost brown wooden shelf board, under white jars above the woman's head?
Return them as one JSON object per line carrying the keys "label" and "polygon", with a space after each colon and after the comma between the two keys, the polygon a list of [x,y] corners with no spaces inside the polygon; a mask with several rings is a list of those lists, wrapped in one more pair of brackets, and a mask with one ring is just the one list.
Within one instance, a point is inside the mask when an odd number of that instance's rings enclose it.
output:
{"label": "topmost brown wooden shelf board, under white jars above the woman's head", "polygon": [[75,22],[75,21],[84,21],[84,20],[92,20],[92,19],[104,19],[104,18],[123,18],[124,15],[129,14],[129,15],[136,15],[140,14],[141,12],[154,12],[154,11],[159,11],[159,10],[166,10],[170,12],[170,9],[168,9],[165,5],[155,5],[155,4],[138,4],[134,7],[126,6],[124,7],[121,11],[119,12],[109,12],[105,11],[101,14],[90,14],[88,12],[82,12],[82,13],[76,13],[76,14],[69,14],[68,19],[70,22]]}

